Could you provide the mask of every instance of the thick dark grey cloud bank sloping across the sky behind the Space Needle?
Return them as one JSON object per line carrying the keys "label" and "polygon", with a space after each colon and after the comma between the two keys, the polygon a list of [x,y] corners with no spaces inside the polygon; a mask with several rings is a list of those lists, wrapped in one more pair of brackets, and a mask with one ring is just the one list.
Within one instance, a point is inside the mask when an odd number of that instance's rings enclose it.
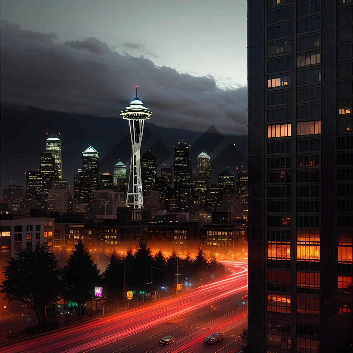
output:
{"label": "thick dark grey cloud bank sloping across the sky behind the Space Needle", "polygon": [[62,43],[53,33],[2,21],[0,39],[1,103],[120,118],[138,85],[156,125],[192,131],[214,125],[222,133],[246,133],[245,87],[221,90],[212,77],[121,55],[96,38]]}

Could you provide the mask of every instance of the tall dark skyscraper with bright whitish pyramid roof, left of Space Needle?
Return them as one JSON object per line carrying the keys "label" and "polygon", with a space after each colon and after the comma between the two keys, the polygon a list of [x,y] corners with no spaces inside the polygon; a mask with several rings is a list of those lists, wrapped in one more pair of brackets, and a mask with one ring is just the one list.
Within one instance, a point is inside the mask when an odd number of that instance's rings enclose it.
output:
{"label": "tall dark skyscraper with bright whitish pyramid roof, left of Space Needle", "polygon": [[98,157],[98,152],[92,146],[82,152],[80,198],[86,203],[93,200],[93,191],[98,189]]}

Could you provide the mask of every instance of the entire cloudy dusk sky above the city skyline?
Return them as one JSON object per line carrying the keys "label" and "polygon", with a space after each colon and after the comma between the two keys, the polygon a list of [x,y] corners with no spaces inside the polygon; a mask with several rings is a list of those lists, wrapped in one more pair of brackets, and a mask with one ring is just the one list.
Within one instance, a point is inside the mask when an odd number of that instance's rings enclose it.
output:
{"label": "entire cloudy dusk sky above the city skyline", "polygon": [[172,166],[181,139],[192,158],[210,155],[214,177],[244,165],[243,2],[1,1],[1,189],[10,180],[25,186],[46,132],[61,133],[71,185],[89,145],[100,152],[101,172],[128,163],[119,113],[135,85],[153,114],[143,151],[151,149],[159,167]]}

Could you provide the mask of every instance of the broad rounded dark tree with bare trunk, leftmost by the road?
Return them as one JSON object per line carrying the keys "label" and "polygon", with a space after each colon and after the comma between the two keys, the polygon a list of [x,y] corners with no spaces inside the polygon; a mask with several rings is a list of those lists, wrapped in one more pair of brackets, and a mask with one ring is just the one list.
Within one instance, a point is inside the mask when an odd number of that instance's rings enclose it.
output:
{"label": "broad rounded dark tree with bare trunk, leftmost by the road", "polygon": [[27,247],[11,257],[4,267],[5,280],[0,286],[4,299],[18,300],[32,309],[44,329],[44,305],[58,300],[60,291],[57,260],[46,244]]}

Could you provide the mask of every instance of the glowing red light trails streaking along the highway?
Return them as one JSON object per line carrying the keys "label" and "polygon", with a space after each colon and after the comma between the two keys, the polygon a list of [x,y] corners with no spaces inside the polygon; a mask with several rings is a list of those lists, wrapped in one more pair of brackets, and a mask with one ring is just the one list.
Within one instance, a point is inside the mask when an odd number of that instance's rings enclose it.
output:
{"label": "glowing red light trails streaking along the highway", "polygon": [[[211,311],[211,305],[215,305],[217,309],[217,305],[215,304],[217,300],[229,298],[247,290],[247,263],[224,261],[223,264],[226,268],[231,269],[232,273],[230,275],[192,289],[190,293],[174,296],[167,300],[161,299],[152,305],[147,304],[137,307],[137,309],[133,311],[128,310],[124,313],[103,319],[93,319],[86,323],[53,331],[52,333],[17,341],[11,345],[2,347],[2,352],[89,352],[113,342],[126,340],[126,337],[137,335],[141,333],[141,331],[151,330],[155,328],[156,325],[196,315],[196,311],[201,307],[209,307]],[[244,310],[244,307],[239,307],[239,309],[240,308]],[[227,315],[229,315],[229,313],[227,313]],[[217,330],[245,318],[246,315],[246,311],[240,313],[238,311],[237,313],[237,311],[234,310],[234,316],[219,323]],[[193,319],[190,319],[190,321]],[[214,321],[219,322],[220,318]],[[178,347],[177,342],[175,342],[175,345],[173,343],[173,347],[170,347],[173,348],[172,351],[168,350],[165,352],[186,352],[185,349],[187,347],[203,345],[205,334],[207,334],[205,328],[196,328],[195,331],[185,335],[185,338],[183,337],[183,347]],[[122,342],[118,343],[117,347],[121,346],[123,344]],[[203,347],[202,345],[200,349]],[[193,349],[193,352],[197,351]]]}

